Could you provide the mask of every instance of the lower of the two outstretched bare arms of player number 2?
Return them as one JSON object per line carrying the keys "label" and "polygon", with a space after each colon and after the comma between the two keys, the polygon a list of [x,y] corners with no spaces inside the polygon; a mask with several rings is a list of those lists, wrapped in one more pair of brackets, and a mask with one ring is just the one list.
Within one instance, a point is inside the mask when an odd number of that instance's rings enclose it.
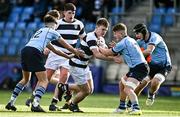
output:
{"label": "lower of the two outstretched bare arms of player number 2", "polygon": [[54,52],[55,54],[57,54],[57,55],[59,55],[59,56],[63,56],[63,57],[65,57],[65,58],[67,58],[67,59],[70,59],[70,58],[73,57],[72,55],[67,55],[67,54],[65,54],[64,52],[55,49],[55,48],[52,46],[51,43],[47,44],[46,47],[47,47],[49,50],[51,50],[52,52]]}

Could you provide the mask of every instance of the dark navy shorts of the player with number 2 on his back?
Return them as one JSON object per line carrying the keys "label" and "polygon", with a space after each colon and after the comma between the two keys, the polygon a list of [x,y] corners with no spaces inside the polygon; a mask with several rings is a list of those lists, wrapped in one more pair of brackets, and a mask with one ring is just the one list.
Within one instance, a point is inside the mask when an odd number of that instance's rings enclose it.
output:
{"label": "dark navy shorts of the player with number 2 on his back", "polygon": [[45,56],[38,49],[26,46],[21,50],[21,66],[24,71],[46,71],[44,65]]}

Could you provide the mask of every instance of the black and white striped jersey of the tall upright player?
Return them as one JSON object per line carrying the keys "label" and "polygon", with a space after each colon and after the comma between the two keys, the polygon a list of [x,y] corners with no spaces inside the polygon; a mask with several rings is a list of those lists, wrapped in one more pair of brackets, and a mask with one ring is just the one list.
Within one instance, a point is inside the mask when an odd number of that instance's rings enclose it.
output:
{"label": "black and white striped jersey of the tall upright player", "polygon": [[[57,32],[59,32],[59,34],[61,34],[61,36],[67,41],[67,43],[71,44],[73,47],[76,46],[77,40],[80,36],[85,37],[86,35],[84,24],[77,19],[74,19],[74,21],[71,23],[66,22],[64,19],[60,19],[58,21],[58,24],[59,26],[57,28]],[[65,53],[71,53],[57,41],[53,41],[52,44],[60,47],[61,50]]]}

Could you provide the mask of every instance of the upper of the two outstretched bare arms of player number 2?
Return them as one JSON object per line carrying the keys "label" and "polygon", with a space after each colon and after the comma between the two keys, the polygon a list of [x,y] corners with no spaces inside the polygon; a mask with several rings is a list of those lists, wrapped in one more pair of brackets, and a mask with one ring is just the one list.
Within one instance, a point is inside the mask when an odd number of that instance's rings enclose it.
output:
{"label": "upper of the two outstretched bare arms of player number 2", "polygon": [[77,49],[73,48],[70,44],[68,44],[63,38],[59,39],[58,42],[63,45],[66,49],[74,53],[76,56],[83,57],[83,53],[78,51]]}

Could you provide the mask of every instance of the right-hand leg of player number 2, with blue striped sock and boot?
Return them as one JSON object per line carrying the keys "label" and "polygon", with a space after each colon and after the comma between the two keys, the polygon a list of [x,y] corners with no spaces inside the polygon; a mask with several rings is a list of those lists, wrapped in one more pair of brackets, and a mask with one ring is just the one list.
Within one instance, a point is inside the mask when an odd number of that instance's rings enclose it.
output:
{"label": "right-hand leg of player number 2, with blue striped sock and boot", "polygon": [[33,112],[45,112],[41,107],[40,107],[40,99],[44,95],[47,85],[48,85],[48,78],[46,75],[46,71],[40,71],[40,72],[35,72],[38,82],[36,85],[35,89],[35,97],[31,106],[31,111]]}

